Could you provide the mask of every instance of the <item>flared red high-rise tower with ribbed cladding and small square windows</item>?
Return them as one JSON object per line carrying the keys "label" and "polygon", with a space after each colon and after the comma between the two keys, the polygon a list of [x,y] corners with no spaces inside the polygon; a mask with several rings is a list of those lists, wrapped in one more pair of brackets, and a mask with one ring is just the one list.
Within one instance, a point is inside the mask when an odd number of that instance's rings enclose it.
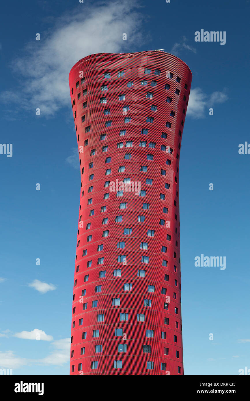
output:
{"label": "flared red high-rise tower with ribbed cladding and small square windows", "polygon": [[71,375],[183,375],[179,155],[191,79],[161,51],[98,53],[69,73],[81,169]]}

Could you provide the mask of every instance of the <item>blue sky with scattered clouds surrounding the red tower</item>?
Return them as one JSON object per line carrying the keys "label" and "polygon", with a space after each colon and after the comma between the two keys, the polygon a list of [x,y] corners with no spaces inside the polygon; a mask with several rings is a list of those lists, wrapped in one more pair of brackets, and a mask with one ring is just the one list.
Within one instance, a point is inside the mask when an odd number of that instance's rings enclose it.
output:
{"label": "blue sky with scattered clouds surrounding the red tower", "polygon": [[[250,143],[249,7],[232,0],[2,4],[0,142],[13,144],[13,154],[0,154],[0,368],[69,374],[80,194],[69,70],[91,53],[155,49],[193,73],[179,180],[184,373],[250,368],[250,155],[238,153]],[[226,31],[226,44],[195,42],[201,29]],[[195,267],[201,254],[226,256],[226,269]]]}

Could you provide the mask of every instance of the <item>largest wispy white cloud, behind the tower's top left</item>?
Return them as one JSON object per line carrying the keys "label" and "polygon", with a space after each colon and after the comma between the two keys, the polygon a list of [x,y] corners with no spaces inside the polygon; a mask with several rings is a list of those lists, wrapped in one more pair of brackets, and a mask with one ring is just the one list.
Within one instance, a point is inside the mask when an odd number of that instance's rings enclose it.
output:
{"label": "largest wispy white cloud, behind the tower's top left", "polygon": [[26,56],[13,61],[13,72],[22,82],[20,90],[2,92],[0,99],[5,104],[16,102],[21,109],[39,107],[41,115],[47,116],[70,107],[69,71],[79,59],[93,53],[126,53],[128,46],[141,45],[138,7],[132,0],[84,4],[81,10],[77,7],[57,18],[55,26],[41,34],[41,41],[26,46]]}

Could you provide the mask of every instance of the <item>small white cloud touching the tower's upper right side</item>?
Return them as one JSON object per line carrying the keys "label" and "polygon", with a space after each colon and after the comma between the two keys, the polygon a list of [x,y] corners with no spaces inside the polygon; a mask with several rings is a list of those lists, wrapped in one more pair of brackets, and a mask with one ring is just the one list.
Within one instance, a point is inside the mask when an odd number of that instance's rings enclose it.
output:
{"label": "small white cloud touching the tower's upper right side", "polygon": [[226,89],[223,92],[213,92],[211,95],[207,95],[199,87],[191,89],[187,115],[193,118],[203,118],[205,117],[205,112],[208,115],[209,108],[213,107],[215,103],[224,103],[226,100],[228,100]]}

